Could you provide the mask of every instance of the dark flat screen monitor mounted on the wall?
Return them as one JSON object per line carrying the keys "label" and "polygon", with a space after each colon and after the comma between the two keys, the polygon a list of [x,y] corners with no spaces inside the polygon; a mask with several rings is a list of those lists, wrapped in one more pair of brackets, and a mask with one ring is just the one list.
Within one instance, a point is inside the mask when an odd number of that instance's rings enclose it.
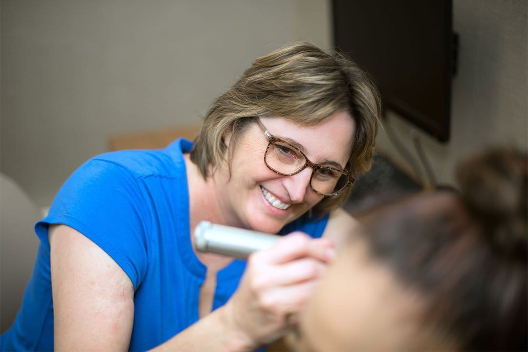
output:
{"label": "dark flat screen monitor mounted on the wall", "polygon": [[451,0],[333,0],[335,46],[369,72],[384,108],[449,140]]}

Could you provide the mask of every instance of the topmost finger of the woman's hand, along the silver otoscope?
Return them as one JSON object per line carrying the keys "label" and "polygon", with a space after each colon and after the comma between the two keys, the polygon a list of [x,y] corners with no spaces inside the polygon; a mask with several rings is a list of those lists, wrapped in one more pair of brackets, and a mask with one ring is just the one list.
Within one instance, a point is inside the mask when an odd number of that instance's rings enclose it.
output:
{"label": "topmost finger of the woman's hand, along the silver otoscope", "polygon": [[312,239],[301,232],[286,235],[271,248],[254,253],[254,256],[276,264],[307,256],[327,263],[333,259],[334,255],[335,250],[331,240]]}

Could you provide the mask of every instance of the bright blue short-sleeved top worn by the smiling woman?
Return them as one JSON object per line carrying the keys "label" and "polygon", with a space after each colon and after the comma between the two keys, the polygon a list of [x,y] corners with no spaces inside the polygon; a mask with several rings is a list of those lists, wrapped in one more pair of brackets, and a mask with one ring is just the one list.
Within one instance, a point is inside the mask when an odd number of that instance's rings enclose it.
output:
{"label": "bright blue short-sleeved top worn by the smiling woman", "polygon": [[[48,225],[66,224],[86,235],[126,272],[134,284],[134,326],[129,350],[164,343],[199,319],[206,268],[191,245],[187,176],[178,139],[166,149],[103,154],[64,183],[49,215],[35,225],[41,240],[32,278],[13,326],[0,336],[9,350],[53,350]],[[312,237],[323,234],[328,215],[307,215],[285,226]],[[234,260],[217,277],[213,309],[237,289],[246,262]]]}

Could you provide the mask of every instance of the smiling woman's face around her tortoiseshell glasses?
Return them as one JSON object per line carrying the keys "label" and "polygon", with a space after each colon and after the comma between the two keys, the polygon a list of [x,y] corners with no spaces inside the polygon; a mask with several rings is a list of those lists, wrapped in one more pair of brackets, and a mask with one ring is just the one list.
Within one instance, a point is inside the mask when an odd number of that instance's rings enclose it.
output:
{"label": "smiling woman's face around her tortoiseshell glasses", "polygon": [[[354,131],[354,123],[348,113],[338,111],[313,127],[299,126],[286,118],[260,120],[265,121],[270,130],[282,131],[282,139],[303,148],[318,163],[341,165],[340,168],[346,165]],[[314,184],[319,184],[313,182],[313,175],[322,165],[302,170],[299,167],[299,172],[291,175],[278,173],[266,163],[269,140],[256,123],[259,120],[253,121],[236,141],[229,160],[225,161],[229,167],[221,167],[215,172],[214,178],[225,186],[210,189],[204,186],[202,189],[215,192],[216,198],[223,204],[222,208],[230,207],[232,226],[276,233],[325,198],[312,188]],[[320,136],[333,136],[333,143],[319,145]],[[234,140],[228,142],[232,145]],[[284,149],[281,153],[285,153]],[[338,195],[343,190],[329,194]]]}

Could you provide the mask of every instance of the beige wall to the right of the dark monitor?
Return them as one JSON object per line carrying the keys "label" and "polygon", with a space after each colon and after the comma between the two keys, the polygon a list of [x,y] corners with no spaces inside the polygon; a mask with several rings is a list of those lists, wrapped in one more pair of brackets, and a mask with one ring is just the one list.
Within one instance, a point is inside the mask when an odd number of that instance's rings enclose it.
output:
{"label": "beige wall to the right of the dark monitor", "polygon": [[[453,26],[460,49],[448,143],[433,140],[394,114],[389,116],[408,149],[413,150],[412,135],[419,136],[440,183],[454,183],[457,160],[485,146],[528,148],[527,4],[525,0],[454,0]],[[408,165],[385,132],[377,142],[393,159]]]}

